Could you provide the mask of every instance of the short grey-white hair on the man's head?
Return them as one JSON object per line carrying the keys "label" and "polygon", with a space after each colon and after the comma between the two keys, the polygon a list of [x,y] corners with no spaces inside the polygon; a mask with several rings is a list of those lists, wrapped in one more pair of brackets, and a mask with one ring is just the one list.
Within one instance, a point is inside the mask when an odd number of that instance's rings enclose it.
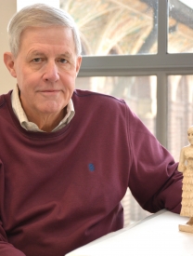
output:
{"label": "short grey-white hair on the man's head", "polygon": [[8,24],[9,47],[12,54],[17,57],[20,47],[20,36],[29,27],[63,26],[71,28],[75,51],[81,55],[81,39],[76,23],[71,15],[62,9],[49,7],[44,4],[35,4],[24,7],[16,13]]}

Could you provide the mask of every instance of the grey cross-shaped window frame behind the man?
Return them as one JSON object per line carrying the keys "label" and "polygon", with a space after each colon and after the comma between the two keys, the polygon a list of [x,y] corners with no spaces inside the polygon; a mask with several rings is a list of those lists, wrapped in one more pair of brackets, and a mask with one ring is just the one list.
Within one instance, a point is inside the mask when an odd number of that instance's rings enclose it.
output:
{"label": "grey cross-shaped window frame behind the man", "polygon": [[157,76],[156,137],[167,148],[167,77],[193,74],[193,53],[167,53],[168,0],[158,0],[158,53],[154,55],[84,56],[79,77]]}

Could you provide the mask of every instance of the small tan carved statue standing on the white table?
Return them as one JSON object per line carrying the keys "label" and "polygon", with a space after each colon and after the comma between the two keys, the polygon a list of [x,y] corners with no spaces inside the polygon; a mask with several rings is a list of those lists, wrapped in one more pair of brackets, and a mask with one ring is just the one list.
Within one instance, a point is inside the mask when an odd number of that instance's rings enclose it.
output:
{"label": "small tan carved statue standing on the white table", "polygon": [[178,170],[183,172],[181,216],[190,217],[186,225],[179,225],[180,231],[193,233],[193,126],[187,130],[189,145],[182,148]]}

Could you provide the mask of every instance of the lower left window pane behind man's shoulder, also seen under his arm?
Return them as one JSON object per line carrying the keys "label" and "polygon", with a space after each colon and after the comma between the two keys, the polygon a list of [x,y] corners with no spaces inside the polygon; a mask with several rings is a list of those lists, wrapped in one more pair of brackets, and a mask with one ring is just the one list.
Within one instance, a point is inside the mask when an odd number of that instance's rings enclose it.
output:
{"label": "lower left window pane behind man's shoulder, also seen under his arm", "polygon": [[[155,75],[78,77],[76,88],[122,98],[155,134],[157,115],[157,77]],[[150,214],[141,209],[129,189],[122,199],[122,206],[125,226]]]}

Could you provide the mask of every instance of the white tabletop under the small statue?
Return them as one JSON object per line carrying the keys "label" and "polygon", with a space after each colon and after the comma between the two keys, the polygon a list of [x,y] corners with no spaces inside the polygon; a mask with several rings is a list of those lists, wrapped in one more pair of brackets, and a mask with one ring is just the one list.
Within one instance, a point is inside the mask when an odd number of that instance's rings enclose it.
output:
{"label": "white tabletop under the small statue", "polygon": [[193,256],[193,234],[178,229],[188,219],[161,210],[66,256]]}

